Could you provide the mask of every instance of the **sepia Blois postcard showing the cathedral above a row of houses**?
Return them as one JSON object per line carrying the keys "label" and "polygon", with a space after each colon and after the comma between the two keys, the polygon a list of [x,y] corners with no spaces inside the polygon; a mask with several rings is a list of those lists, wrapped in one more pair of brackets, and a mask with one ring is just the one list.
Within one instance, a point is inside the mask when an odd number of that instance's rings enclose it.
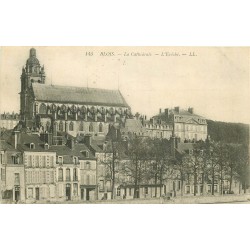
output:
{"label": "sepia Blois postcard showing the cathedral above a row of houses", "polygon": [[250,203],[249,47],[0,51],[0,203]]}

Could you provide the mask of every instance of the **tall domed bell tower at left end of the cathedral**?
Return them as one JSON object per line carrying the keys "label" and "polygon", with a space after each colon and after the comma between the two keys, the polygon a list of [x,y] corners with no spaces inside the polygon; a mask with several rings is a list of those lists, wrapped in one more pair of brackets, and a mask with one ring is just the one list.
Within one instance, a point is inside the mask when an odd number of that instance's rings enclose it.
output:
{"label": "tall domed bell tower at left end of the cathedral", "polygon": [[36,50],[30,49],[26,66],[22,69],[21,92],[20,92],[20,115],[22,121],[34,119],[34,100],[32,95],[32,84],[45,84],[44,66],[40,66],[36,58]]}

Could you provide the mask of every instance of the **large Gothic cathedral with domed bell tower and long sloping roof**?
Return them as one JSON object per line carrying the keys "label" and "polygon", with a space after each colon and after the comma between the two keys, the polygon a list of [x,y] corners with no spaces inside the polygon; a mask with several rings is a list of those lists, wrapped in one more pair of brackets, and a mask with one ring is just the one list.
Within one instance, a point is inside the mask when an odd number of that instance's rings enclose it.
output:
{"label": "large Gothic cathedral with domed bell tower and long sloping roof", "polygon": [[60,144],[63,134],[104,138],[110,125],[122,125],[132,114],[119,90],[47,84],[32,48],[22,69],[20,116],[27,128],[52,133]]}

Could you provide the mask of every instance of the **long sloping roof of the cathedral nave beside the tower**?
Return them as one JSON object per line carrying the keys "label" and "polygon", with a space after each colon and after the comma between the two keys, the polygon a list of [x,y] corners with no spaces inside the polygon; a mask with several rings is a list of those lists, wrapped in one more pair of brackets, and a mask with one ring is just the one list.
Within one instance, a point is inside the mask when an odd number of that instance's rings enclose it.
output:
{"label": "long sloping roof of the cathedral nave beside the tower", "polygon": [[129,107],[119,90],[33,83],[33,92],[36,100],[44,102]]}

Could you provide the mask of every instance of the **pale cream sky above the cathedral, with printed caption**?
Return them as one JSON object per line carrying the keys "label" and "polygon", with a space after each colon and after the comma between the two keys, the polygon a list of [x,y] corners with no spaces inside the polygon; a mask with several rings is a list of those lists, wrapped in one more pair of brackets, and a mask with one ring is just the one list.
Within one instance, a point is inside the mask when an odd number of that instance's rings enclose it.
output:
{"label": "pale cream sky above the cathedral, with printed caption", "polygon": [[[0,48],[2,113],[19,112],[31,47]],[[132,112],[147,118],[179,106],[207,119],[250,123],[247,47],[34,48],[46,84],[119,89]]]}

